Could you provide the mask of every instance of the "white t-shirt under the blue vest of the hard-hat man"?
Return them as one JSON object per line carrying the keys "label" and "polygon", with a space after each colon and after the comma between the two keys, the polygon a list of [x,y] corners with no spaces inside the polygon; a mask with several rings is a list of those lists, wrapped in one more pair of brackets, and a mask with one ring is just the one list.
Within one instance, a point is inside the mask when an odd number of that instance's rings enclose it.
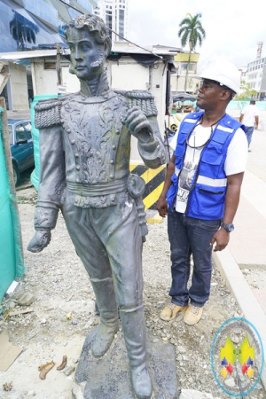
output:
{"label": "white t-shirt under the blue vest of the hard-hat man", "polygon": [[[213,127],[215,129],[215,127]],[[179,131],[179,130],[178,130]],[[178,131],[173,137],[170,146],[176,150],[176,143]],[[184,213],[190,188],[192,185],[193,176],[198,168],[200,154],[211,135],[211,128],[204,128],[198,125],[192,132],[189,140],[189,146],[186,147],[184,156],[184,165],[179,174],[178,179],[178,192],[176,195],[176,212]],[[197,148],[192,148],[197,147]],[[226,176],[236,175],[245,171],[247,160],[247,141],[246,135],[242,129],[238,129],[231,139],[228,146],[226,159],[224,162],[224,172]]]}

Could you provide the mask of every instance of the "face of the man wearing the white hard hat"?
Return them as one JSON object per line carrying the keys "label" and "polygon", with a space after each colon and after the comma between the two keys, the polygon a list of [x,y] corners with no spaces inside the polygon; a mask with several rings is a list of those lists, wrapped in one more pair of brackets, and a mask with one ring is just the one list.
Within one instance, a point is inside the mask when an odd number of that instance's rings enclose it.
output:
{"label": "face of the man wearing the white hard hat", "polygon": [[223,88],[218,84],[204,79],[199,89],[197,106],[201,109],[215,109],[220,102]]}

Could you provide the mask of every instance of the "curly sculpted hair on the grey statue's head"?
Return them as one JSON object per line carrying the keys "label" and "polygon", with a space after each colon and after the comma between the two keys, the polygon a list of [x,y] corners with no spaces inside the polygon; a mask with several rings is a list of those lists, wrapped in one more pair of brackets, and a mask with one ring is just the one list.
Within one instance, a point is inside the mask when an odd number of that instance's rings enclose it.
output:
{"label": "curly sculpted hair on the grey statue's head", "polygon": [[79,17],[75,17],[66,25],[65,35],[66,40],[68,38],[69,31],[71,28],[75,29],[87,29],[89,32],[95,33],[94,37],[98,44],[107,42],[111,49],[111,39],[108,35],[105,22],[97,15],[82,14]]}

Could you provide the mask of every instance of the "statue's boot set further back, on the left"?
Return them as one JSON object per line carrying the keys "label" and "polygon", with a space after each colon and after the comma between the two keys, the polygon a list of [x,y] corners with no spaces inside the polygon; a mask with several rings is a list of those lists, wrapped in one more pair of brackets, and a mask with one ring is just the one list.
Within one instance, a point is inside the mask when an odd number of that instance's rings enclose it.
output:
{"label": "statue's boot set further back, on the left", "polygon": [[92,341],[93,356],[103,356],[113,342],[118,331],[118,309],[114,293],[113,278],[104,280],[90,279],[98,302],[100,325]]}

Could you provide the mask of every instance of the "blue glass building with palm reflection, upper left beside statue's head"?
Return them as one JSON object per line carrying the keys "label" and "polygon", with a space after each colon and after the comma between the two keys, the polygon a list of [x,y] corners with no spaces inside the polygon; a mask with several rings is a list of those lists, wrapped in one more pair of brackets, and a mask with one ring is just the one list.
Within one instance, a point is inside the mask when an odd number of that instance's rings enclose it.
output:
{"label": "blue glass building with palm reflection, upper left beside statue's head", "polygon": [[66,45],[64,26],[81,13],[93,13],[96,0],[0,0],[0,52]]}

